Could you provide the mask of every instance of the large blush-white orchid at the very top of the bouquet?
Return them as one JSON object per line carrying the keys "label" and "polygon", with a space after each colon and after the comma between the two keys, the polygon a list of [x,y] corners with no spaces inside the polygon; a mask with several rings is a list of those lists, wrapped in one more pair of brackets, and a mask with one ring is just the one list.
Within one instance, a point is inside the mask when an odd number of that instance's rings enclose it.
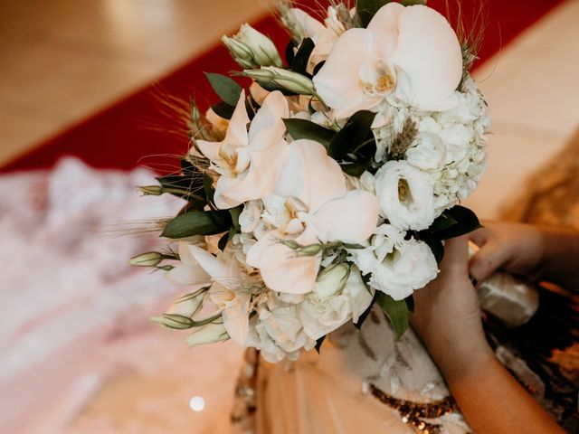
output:
{"label": "large blush-white orchid at the very top of the bouquet", "polygon": [[449,109],[462,77],[462,52],[446,19],[423,5],[384,5],[366,29],[337,40],[314,77],[316,92],[346,118],[388,95],[416,109]]}

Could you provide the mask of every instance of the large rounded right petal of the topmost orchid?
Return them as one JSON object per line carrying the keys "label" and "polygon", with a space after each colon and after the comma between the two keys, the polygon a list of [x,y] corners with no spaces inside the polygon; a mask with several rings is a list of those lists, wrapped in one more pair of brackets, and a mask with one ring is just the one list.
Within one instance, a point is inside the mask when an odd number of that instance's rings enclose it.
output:
{"label": "large rounded right petal of the topmost orchid", "polygon": [[[448,21],[430,7],[403,8],[394,64],[407,75],[410,95],[396,92],[418,109],[448,109],[462,77],[462,52]],[[406,90],[405,93],[408,93]]]}

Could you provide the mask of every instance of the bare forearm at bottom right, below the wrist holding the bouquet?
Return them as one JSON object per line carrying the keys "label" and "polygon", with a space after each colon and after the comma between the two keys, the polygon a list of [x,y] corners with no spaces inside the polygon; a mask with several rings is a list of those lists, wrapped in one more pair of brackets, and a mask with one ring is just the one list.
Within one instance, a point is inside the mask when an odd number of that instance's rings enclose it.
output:
{"label": "bare forearm at bottom right, below the wrist holding the bouquet", "polygon": [[442,374],[475,433],[563,433],[545,410],[484,351],[460,363],[442,363]]}

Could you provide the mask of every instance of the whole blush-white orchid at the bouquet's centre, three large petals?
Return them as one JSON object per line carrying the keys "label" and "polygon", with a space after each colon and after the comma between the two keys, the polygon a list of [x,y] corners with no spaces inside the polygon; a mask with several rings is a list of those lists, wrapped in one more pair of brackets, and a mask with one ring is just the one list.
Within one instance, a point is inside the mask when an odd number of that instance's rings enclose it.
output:
{"label": "whole blush-white orchid at the bouquet's centre, three large petals", "polygon": [[324,146],[311,140],[300,139],[289,145],[275,194],[275,200],[264,203],[276,229],[252,246],[247,263],[260,269],[265,284],[277,292],[310,292],[320,260],[320,255],[296,258],[280,240],[302,245],[318,241],[359,243],[367,240],[378,221],[375,195],[347,192],[340,166],[327,156]]}

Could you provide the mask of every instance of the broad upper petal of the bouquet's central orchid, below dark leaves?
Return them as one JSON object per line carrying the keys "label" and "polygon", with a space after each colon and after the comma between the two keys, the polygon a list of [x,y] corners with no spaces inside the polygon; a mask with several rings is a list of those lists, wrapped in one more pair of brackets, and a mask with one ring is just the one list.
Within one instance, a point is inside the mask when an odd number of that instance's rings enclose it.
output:
{"label": "broad upper petal of the bouquet's central orchid, below dark leaves", "polygon": [[286,164],[275,193],[299,199],[309,212],[346,194],[346,178],[336,160],[318,142],[300,139],[289,144]]}

